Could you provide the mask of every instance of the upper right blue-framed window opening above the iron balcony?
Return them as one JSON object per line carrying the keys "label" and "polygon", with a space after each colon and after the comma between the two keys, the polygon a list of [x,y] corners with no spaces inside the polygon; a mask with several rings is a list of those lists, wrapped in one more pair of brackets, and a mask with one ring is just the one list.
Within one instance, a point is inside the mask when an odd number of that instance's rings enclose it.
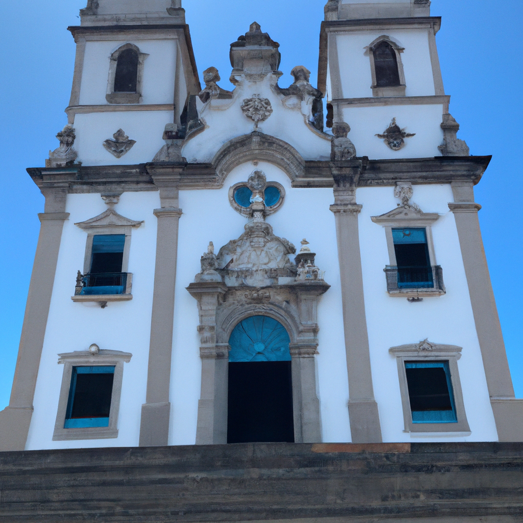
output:
{"label": "upper right blue-framed window opening above the iron balcony", "polygon": [[399,289],[434,287],[425,228],[392,229]]}

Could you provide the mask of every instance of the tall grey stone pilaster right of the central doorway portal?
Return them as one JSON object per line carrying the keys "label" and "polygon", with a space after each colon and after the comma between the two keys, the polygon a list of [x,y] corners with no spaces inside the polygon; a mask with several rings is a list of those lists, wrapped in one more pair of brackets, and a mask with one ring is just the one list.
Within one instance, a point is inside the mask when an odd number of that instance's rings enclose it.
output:
{"label": "tall grey stone pilaster right of the central doorway portal", "polygon": [[349,381],[349,419],[353,443],[381,442],[378,404],[374,400],[369,337],[363,297],[356,187],[362,163],[331,164],[334,177],[334,212],[342,284],[345,350]]}

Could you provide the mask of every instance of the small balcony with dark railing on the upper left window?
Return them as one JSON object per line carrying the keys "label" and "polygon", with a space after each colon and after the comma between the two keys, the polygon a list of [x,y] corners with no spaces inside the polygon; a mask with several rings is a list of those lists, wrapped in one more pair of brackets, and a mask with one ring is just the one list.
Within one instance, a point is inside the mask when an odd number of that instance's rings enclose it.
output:
{"label": "small balcony with dark railing on the upper left window", "polygon": [[75,302],[98,302],[104,309],[109,301],[132,300],[130,272],[99,272],[82,275],[78,271]]}

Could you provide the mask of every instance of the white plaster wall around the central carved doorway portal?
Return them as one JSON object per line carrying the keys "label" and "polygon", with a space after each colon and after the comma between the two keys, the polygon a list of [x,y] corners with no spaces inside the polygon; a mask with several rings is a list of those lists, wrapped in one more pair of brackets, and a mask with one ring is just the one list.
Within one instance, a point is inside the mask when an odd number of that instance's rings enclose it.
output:
{"label": "white plaster wall around the central carved doorway portal", "polygon": [[[281,209],[267,221],[277,236],[300,246],[306,237],[316,254],[316,264],[325,270],[325,280],[332,287],[321,298],[319,355],[316,356],[319,377],[324,441],[350,441],[348,420],[348,383],[343,333],[342,297],[339,287],[332,189],[294,189],[289,177],[278,167],[251,162],[233,169],[222,189],[180,191],[178,268],[174,313],[173,370],[171,402],[173,417],[170,445],[192,445],[196,438],[196,418],[201,385],[198,312],[196,300],[186,287],[200,271],[200,257],[210,241],[215,252],[244,232],[245,218],[229,204],[229,187],[246,181],[255,169],[261,169],[269,181],[285,187],[286,198]],[[195,234],[196,232],[196,234]]]}

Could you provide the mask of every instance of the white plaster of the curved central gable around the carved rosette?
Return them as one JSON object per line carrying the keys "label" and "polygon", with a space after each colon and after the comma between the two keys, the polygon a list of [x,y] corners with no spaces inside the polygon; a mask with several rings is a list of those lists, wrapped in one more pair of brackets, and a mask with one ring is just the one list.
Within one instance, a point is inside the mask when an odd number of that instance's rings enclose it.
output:
{"label": "white plaster of the curved central gable around the carved rosette", "polygon": [[200,110],[200,120],[206,129],[184,144],[182,155],[187,161],[210,162],[226,142],[251,133],[254,122],[244,115],[241,106],[243,100],[255,94],[269,99],[273,110],[267,120],[259,122],[258,131],[289,143],[305,160],[328,160],[331,157],[328,135],[311,129],[305,123],[306,108],[301,101],[295,96],[284,98],[276,94],[270,81],[271,75],[259,82],[245,79],[236,86],[232,100],[213,99],[205,104]]}

